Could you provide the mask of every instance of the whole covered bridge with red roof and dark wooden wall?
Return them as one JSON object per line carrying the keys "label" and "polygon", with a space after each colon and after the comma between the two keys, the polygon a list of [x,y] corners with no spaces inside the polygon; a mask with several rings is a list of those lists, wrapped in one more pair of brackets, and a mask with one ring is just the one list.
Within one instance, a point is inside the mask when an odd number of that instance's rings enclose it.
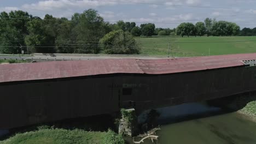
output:
{"label": "whole covered bridge with red roof and dark wooden wall", "polygon": [[256,53],[0,65],[0,129],[256,90]]}

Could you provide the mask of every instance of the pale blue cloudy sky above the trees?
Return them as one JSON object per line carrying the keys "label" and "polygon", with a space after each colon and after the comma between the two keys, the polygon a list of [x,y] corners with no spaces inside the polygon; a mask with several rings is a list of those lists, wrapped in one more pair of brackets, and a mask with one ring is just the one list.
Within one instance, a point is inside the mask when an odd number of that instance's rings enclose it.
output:
{"label": "pale blue cloudy sky above the trees", "polygon": [[[135,3],[155,3],[135,4]],[[174,5],[202,6],[215,8],[174,7]],[[231,8],[231,9],[217,9]],[[74,13],[96,9],[105,21],[124,20],[153,22],[156,27],[174,28],[181,22],[203,21],[206,17],[236,22],[243,27],[256,27],[255,0],[0,0],[0,11],[24,10],[34,16],[70,18]]]}

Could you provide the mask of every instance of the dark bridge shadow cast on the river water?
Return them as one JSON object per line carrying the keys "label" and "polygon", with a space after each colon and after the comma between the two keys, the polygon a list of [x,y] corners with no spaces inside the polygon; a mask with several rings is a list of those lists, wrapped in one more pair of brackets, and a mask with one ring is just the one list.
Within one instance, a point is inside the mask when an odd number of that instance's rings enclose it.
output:
{"label": "dark bridge shadow cast on the river water", "polygon": [[[236,95],[213,99],[208,101],[202,101],[199,103],[188,103],[182,105],[175,105],[169,107],[163,107],[156,109],[159,113],[159,117],[154,123],[154,127],[157,125],[165,125],[172,123],[179,123],[184,121],[190,121],[193,119],[200,119],[206,117],[212,117],[217,115],[225,115],[227,113],[236,112],[243,109],[249,102],[255,101],[256,97]],[[139,117],[138,122],[143,124],[147,121],[147,116],[150,110],[144,111]]]}

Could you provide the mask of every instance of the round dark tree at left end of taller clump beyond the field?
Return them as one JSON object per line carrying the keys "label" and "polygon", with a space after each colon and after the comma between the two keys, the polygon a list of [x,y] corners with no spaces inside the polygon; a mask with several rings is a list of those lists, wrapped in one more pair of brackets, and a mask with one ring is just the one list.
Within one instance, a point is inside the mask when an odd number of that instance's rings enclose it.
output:
{"label": "round dark tree at left end of taller clump beyond the field", "polygon": [[184,35],[187,35],[188,37],[190,35],[195,35],[195,32],[195,26],[190,22],[183,22],[176,28],[176,34],[181,35],[182,37],[184,37]]}

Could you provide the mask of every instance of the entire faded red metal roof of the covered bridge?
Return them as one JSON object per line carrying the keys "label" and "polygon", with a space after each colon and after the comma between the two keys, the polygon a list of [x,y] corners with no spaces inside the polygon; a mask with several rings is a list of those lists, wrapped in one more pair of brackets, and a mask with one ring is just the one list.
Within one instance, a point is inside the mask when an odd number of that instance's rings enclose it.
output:
{"label": "entire faded red metal roof of the covered bridge", "polygon": [[256,59],[256,53],[177,59],[96,59],[0,64],[0,82],[57,79],[102,74],[172,74],[237,67]]}

